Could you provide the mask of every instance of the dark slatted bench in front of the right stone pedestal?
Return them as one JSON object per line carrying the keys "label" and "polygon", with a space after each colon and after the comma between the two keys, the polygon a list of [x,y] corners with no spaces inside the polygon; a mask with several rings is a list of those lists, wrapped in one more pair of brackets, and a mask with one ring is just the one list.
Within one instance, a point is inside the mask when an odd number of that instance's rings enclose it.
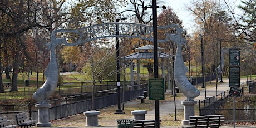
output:
{"label": "dark slatted bench in front of the right stone pedestal", "polygon": [[183,127],[220,127],[225,115],[190,116],[189,125]]}

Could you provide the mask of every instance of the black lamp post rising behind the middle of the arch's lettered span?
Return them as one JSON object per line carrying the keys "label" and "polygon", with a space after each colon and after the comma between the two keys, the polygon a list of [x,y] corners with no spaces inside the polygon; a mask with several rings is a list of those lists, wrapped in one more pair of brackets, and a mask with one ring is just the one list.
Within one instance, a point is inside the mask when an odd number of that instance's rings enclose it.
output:
{"label": "black lamp post rising behind the middle of the arch's lettered span", "polygon": [[[116,23],[122,20],[126,20],[127,18],[119,18],[116,19]],[[118,24],[116,24],[116,36],[119,35],[119,28],[118,28]],[[123,112],[121,110],[121,95],[120,95],[120,61],[119,61],[119,38],[116,37],[116,67],[117,67],[117,72],[116,72],[116,76],[117,76],[117,110],[115,112],[115,114],[125,114],[125,112]]]}

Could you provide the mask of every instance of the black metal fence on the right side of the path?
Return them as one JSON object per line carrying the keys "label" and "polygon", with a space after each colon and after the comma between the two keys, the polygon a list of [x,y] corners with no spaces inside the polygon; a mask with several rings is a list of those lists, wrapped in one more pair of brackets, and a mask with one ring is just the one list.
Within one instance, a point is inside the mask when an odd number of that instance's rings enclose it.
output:
{"label": "black metal fence on the right side of the path", "polygon": [[[249,87],[242,83],[242,90],[245,88],[252,88],[251,82]],[[234,102],[232,96],[228,95],[229,90],[219,93],[216,96],[209,97],[203,101],[199,101],[199,114],[200,115],[215,115],[224,114],[225,120],[233,120]],[[244,93],[243,93],[244,95]],[[256,95],[247,95],[240,98],[235,102],[236,120],[240,121],[256,121]]]}

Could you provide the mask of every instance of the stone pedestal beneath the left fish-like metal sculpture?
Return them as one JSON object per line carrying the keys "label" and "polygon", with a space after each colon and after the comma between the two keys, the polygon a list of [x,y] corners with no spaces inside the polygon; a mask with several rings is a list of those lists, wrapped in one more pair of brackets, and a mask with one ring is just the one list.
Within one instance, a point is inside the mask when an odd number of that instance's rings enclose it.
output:
{"label": "stone pedestal beneath the left fish-like metal sculpture", "polygon": [[37,127],[52,127],[51,122],[49,122],[49,107],[51,104],[36,104],[36,108],[38,108]]}

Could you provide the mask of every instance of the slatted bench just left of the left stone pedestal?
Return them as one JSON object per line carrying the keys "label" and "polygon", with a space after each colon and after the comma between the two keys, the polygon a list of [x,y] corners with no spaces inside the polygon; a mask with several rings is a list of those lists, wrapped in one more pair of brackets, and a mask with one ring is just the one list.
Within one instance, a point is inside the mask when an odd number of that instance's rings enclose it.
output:
{"label": "slatted bench just left of the left stone pedestal", "polygon": [[36,125],[36,120],[31,120],[31,118],[27,116],[26,112],[16,114],[15,117],[16,117],[16,122],[17,122],[18,126],[21,126],[21,127],[30,126],[31,127],[31,126]]}

